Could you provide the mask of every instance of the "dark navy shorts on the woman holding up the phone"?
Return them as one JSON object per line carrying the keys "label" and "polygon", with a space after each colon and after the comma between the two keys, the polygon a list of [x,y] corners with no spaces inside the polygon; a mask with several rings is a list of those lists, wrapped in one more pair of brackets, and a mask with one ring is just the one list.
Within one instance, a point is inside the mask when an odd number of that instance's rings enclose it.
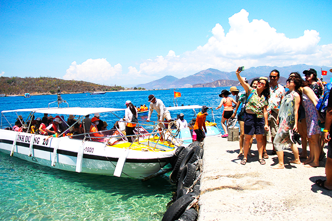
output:
{"label": "dark navy shorts on the woman holding up the phone", "polygon": [[247,135],[254,135],[254,134],[264,134],[264,117],[257,118],[257,115],[254,113],[247,113],[245,112],[244,115],[245,119],[245,126],[244,131]]}

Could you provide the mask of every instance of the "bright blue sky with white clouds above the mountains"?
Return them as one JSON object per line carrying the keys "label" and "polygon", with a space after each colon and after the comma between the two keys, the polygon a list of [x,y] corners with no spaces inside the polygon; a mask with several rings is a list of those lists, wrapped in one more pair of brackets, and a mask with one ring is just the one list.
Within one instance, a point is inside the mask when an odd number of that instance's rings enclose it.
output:
{"label": "bright blue sky with white clouds above the mountains", "polygon": [[332,0],[0,0],[0,76],[131,87],[208,68],[332,67],[331,9]]}

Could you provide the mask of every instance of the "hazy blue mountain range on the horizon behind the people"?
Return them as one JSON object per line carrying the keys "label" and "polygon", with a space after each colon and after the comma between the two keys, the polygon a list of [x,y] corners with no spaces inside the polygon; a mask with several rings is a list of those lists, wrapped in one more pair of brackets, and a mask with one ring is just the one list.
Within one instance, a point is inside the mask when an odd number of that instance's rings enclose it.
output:
{"label": "hazy blue mountain range on the horizon behind the people", "polygon": [[[284,77],[280,78],[280,83],[286,83],[286,79],[288,78],[291,72],[299,72],[302,74],[304,70],[308,70],[309,68],[313,68],[317,71],[318,77],[321,76],[321,69],[323,71],[328,71],[327,76],[323,76],[325,81],[330,82],[330,77],[332,77],[332,73],[329,71],[331,67],[326,66],[309,66],[306,64],[299,65],[290,65],[285,67],[270,67],[270,66],[259,66],[259,67],[251,67],[248,70],[245,70],[241,73],[241,76],[246,77],[249,82],[250,79],[260,76],[268,77],[270,72],[274,69],[280,72],[280,76]],[[303,75],[304,76],[304,75]],[[285,82],[282,82],[282,81]],[[140,84],[136,87],[142,87],[145,89],[169,89],[169,88],[192,88],[192,87],[228,87],[228,86],[236,86],[239,83],[237,80],[235,71],[234,72],[222,72],[217,69],[209,68],[204,71],[200,71],[196,74],[183,77],[181,79],[167,75],[158,80],[151,81],[149,83]]]}

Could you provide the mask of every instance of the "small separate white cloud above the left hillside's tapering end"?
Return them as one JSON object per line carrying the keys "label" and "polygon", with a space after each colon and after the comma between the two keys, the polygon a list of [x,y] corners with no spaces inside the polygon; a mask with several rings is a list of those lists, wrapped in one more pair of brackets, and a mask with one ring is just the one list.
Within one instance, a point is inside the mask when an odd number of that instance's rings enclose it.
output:
{"label": "small separate white cloud above the left hillside's tapering end", "polygon": [[105,83],[111,78],[120,78],[121,64],[111,66],[105,58],[87,59],[82,64],[72,62],[63,76],[65,80],[83,80],[95,83]]}

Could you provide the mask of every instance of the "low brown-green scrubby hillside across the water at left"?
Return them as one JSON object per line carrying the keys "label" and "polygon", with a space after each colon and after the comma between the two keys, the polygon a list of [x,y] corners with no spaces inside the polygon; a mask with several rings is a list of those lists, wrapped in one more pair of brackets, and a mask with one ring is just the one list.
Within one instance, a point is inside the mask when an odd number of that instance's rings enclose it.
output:
{"label": "low brown-green scrubby hillside across the water at left", "polygon": [[62,93],[82,93],[96,91],[120,91],[121,86],[105,86],[85,81],[62,80],[52,77],[0,77],[0,94],[20,95],[57,93],[58,86]]}

